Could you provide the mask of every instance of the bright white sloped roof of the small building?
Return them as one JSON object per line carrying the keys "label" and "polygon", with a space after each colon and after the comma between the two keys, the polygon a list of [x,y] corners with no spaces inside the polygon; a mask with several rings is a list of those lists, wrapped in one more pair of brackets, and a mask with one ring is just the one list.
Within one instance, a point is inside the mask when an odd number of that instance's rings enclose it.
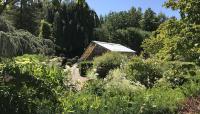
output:
{"label": "bright white sloped roof of the small building", "polygon": [[121,44],[115,44],[115,43],[107,43],[107,42],[100,42],[100,41],[93,41],[94,43],[110,50],[113,52],[129,52],[129,53],[135,53],[134,50],[127,48]]}

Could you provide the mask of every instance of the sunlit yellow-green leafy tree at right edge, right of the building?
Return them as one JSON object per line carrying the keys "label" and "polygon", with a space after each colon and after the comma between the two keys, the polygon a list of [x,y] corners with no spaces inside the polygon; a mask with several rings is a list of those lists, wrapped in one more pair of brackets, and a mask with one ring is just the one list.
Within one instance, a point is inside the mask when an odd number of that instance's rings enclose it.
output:
{"label": "sunlit yellow-green leafy tree at right edge, right of the building", "polygon": [[200,26],[169,20],[143,43],[145,53],[163,60],[198,62]]}

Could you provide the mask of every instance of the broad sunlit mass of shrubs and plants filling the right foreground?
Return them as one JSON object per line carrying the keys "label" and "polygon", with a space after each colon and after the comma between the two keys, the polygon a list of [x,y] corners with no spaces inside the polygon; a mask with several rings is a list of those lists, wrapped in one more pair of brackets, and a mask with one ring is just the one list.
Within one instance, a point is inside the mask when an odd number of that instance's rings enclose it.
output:
{"label": "broad sunlit mass of shrubs and plants filling the right foreground", "polygon": [[[127,72],[124,65],[133,72]],[[194,63],[134,57],[124,65],[111,70],[104,80],[91,80],[81,92],[71,93],[66,98],[67,110],[77,114],[175,114],[187,97],[199,95],[199,67]]]}

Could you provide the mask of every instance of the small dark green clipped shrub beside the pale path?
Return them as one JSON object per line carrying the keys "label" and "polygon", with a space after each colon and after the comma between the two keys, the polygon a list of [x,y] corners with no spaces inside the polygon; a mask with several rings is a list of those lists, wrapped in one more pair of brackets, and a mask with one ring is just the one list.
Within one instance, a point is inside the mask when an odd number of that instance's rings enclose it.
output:
{"label": "small dark green clipped shrub beside the pale path", "polygon": [[81,76],[85,76],[87,71],[91,69],[92,66],[93,66],[93,63],[89,61],[83,61],[79,63],[79,70],[80,70]]}

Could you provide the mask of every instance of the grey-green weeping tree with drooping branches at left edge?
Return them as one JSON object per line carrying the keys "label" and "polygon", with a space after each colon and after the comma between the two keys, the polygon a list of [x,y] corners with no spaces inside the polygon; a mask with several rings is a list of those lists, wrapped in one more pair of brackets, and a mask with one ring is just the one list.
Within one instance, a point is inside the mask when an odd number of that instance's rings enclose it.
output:
{"label": "grey-green weeping tree with drooping branches at left edge", "polygon": [[5,33],[0,31],[0,56],[13,57],[23,54],[53,54],[54,44],[23,30]]}

